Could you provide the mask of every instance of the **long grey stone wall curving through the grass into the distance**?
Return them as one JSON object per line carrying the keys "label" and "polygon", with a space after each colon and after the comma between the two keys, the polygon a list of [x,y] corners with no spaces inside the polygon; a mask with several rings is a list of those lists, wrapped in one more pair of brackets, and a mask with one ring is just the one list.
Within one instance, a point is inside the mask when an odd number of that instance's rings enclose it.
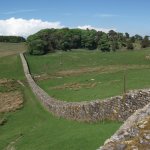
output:
{"label": "long grey stone wall curving through the grass into the distance", "polygon": [[55,116],[87,122],[96,122],[98,120],[123,121],[137,109],[143,108],[150,102],[150,89],[130,91],[124,98],[116,96],[91,102],[64,102],[56,100],[35,83],[30,75],[23,54],[20,54],[20,57],[31,89],[44,107]]}

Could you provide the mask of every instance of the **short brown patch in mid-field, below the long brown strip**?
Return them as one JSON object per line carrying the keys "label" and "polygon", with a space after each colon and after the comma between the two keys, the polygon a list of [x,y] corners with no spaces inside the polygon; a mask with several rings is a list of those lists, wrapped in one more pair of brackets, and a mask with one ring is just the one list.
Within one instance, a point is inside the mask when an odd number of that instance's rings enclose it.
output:
{"label": "short brown patch in mid-field, below the long brown strip", "polygon": [[97,83],[65,83],[64,85],[51,87],[50,89],[55,90],[64,90],[64,89],[70,89],[70,90],[79,90],[81,88],[94,88],[96,87]]}

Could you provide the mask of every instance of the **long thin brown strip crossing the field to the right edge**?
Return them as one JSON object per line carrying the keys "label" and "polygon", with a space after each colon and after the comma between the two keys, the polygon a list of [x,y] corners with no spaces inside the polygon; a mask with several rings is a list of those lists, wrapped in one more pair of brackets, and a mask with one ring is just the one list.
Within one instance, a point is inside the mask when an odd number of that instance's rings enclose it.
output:
{"label": "long thin brown strip crossing the field to the right edge", "polygon": [[99,67],[82,67],[80,69],[73,69],[73,70],[63,70],[58,71],[53,74],[41,74],[41,75],[34,75],[34,79],[41,81],[53,78],[62,78],[66,76],[78,76],[85,73],[113,73],[117,71],[127,70],[127,69],[146,69],[150,68],[149,65],[108,65],[108,66],[99,66]]}

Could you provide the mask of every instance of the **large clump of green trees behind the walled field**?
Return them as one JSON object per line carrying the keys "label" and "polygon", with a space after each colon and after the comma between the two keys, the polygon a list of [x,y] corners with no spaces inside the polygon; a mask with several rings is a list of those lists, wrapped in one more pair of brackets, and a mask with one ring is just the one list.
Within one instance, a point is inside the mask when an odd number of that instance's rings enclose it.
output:
{"label": "large clump of green trees behind the walled field", "polygon": [[118,33],[113,30],[104,33],[94,29],[43,29],[27,38],[29,53],[33,55],[71,49],[99,49],[103,52],[119,49],[132,50],[134,43],[140,43],[142,48],[150,46],[148,36],[130,37],[128,33]]}

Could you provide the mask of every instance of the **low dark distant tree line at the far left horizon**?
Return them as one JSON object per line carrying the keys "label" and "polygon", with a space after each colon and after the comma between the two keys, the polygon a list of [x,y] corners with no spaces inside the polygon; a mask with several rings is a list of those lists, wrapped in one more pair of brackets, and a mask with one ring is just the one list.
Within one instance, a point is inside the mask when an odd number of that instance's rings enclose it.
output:
{"label": "low dark distant tree line at the far left horizon", "polygon": [[21,36],[0,36],[0,42],[20,43],[25,41],[26,39]]}

